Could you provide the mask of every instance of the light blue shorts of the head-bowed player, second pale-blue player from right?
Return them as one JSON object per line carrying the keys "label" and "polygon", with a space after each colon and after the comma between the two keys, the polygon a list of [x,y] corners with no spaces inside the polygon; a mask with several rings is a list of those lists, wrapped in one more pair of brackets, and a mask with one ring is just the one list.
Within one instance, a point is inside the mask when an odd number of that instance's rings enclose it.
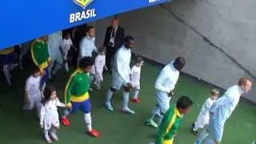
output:
{"label": "light blue shorts of the head-bowed player, second pale-blue player from right", "polygon": [[160,113],[166,114],[166,111],[170,108],[170,99],[166,92],[157,90],[155,97],[157,98],[157,106],[160,110]]}

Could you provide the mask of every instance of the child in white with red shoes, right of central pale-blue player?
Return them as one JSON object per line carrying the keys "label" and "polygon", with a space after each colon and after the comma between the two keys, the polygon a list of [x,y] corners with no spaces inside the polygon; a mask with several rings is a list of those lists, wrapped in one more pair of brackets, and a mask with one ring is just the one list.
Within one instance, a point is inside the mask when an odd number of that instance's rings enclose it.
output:
{"label": "child in white with red shoes, right of central pale-blue player", "polygon": [[141,102],[140,99],[138,98],[138,94],[140,90],[141,69],[142,69],[143,63],[144,63],[143,59],[140,57],[137,57],[135,60],[135,65],[131,69],[130,82],[134,87],[133,102],[135,103]]}

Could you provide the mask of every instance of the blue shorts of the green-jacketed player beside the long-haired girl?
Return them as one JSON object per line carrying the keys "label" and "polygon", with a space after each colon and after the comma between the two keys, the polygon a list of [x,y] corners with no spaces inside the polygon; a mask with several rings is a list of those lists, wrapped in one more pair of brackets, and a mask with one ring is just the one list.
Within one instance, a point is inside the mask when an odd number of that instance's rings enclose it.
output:
{"label": "blue shorts of the green-jacketed player beside the long-haired girl", "polygon": [[71,108],[71,113],[74,113],[78,111],[78,109],[82,110],[84,114],[90,113],[90,99],[87,99],[86,101],[83,102],[71,102],[72,108]]}

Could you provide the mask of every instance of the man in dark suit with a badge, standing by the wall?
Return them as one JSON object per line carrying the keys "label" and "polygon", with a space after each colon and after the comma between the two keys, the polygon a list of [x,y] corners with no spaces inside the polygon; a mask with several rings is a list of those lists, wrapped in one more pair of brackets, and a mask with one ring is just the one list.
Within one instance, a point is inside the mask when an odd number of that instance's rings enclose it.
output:
{"label": "man in dark suit with a badge, standing by the wall", "polygon": [[106,29],[104,46],[106,46],[106,67],[111,70],[111,63],[116,51],[122,46],[125,30],[119,26],[119,19],[114,18],[111,25]]}

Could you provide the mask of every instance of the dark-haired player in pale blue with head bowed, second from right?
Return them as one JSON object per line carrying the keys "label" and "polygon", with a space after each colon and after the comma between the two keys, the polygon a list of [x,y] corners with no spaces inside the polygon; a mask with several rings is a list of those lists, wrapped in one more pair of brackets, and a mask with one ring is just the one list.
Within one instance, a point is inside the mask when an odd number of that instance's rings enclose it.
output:
{"label": "dark-haired player in pale blue with head bowed, second from right", "polygon": [[[174,88],[178,82],[179,72],[186,65],[186,61],[182,57],[178,57],[174,62],[166,65],[159,74],[154,88],[156,89],[157,104],[152,110],[150,118],[147,119],[146,125],[158,127],[162,122],[163,115],[170,108],[170,99],[174,94]],[[158,124],[154,122],[154,117],[158,115]]]}

